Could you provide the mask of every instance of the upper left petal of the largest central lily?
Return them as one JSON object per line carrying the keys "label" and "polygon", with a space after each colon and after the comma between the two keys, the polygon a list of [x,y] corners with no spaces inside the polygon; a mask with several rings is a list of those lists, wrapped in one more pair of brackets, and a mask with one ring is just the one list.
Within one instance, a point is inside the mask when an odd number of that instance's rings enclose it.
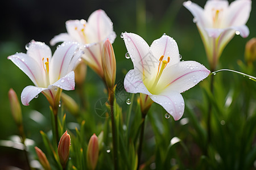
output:
{"label": "upper left petal of the largest central lily", "polygon": [[158,67],[159,58],[155,58],[154,55],[148,52],[150,47],[141,36],[126,32],[122,33],[122,36],[131,61],[133,61],[134,69],[138,70],[142,75],[150,75],[151,68]]}

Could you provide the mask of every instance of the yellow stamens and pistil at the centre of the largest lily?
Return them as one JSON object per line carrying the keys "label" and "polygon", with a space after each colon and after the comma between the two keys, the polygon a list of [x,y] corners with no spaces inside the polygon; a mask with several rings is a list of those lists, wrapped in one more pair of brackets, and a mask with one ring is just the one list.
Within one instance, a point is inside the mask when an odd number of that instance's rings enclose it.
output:
{"label": "yellow stamens and pistil at the centre of the largest lily", "polygon": [[157,87],[157,84],[158,84],[159,79],[160,79],[160,77],[161,77],[161,75],[163,73],[163,70],[166,68],[167,64],[170,62],[170,57],[167,58],[167,61],[163,60],[163,58],[164,58],[164,56],[161,56],[159,58],[158,74],[156,74],[154,83],[152,84],[151,88],[148,89],[148,91],[150,91],[151,94],[156,94],[155,92],[159,91],[159,89]]}

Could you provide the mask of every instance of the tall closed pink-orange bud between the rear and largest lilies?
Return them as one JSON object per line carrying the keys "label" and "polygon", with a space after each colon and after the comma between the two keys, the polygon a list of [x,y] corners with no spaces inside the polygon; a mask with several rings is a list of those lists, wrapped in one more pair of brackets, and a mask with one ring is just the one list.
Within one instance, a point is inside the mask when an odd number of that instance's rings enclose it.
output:
{"label": "tall closed pink-orange bud between the rear and largest lilies", "polygon": [[109,39],[104,42],[102,47],[102,68],[106,85],[109,88],[113,88],[115,83],[116,63],[114,49]]}

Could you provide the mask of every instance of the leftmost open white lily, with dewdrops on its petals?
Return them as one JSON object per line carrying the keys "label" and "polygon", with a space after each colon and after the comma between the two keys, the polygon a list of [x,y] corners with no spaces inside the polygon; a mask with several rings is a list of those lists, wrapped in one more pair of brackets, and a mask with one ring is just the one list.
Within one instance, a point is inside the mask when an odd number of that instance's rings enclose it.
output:
{"label": "leftmost open white lily, with dewdrops on its petals", "polygon": [[27,86],[21,94],[23,105],[42,92],[50,105],[59,105],[61,90],[75,89],[73,67],[81,57],[79,44],[64,42],[52,56],[51,49],[44,42],[32,40],[27,46],[27,53],[16,53],[7,57],[32,80],[35,86]]}

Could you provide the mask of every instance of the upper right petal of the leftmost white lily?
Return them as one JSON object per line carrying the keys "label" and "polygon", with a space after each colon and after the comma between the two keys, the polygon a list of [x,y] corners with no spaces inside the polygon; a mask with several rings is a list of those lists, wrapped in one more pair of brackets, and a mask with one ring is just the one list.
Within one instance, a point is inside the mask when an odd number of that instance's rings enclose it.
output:
{"label": "upper right petal of the leftmost white lily", "polygon": [[79,48],[76,42],[63,42],[53,54],[49,63],[50,84],[56,82],[64,75],[68,74],[68,66],[74,54]]}

